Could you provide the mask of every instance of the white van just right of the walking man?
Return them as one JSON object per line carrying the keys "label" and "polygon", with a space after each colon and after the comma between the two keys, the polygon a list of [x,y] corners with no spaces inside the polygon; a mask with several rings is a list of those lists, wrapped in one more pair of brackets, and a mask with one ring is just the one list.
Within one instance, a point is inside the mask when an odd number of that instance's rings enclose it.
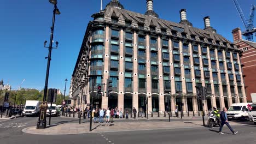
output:
{"label": "white van just right of the walking man", "polygon": [[229,107],[229,110],[226,112],[229,121],[232,119],[238,119],[245,121],[249,119],[247,105],[252,103],[235,103]]}

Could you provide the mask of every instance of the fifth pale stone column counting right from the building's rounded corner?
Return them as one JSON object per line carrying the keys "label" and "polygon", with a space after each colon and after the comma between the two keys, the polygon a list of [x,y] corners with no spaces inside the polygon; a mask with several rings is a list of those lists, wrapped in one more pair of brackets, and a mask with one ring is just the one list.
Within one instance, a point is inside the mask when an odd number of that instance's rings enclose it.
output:
{"label": "fifth pale stone column counting right from the building's rounded corner", "polygon": [[159,74],[159,111],[165,111],[165,99],[164,99],[164,79],[162,71],[162,49],[161,49],[161,38],[158,37],[158,74]]}

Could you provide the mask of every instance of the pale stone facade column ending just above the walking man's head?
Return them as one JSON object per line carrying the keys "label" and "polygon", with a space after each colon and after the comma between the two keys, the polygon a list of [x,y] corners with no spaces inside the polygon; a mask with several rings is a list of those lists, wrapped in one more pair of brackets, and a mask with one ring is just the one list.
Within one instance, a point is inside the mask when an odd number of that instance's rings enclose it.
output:
{"label": "pale stone facade column ending just above the walking man's head", "polygon": [[[225,106],[224,102],[224,95],[223,95],[223,88],[222,88],[222,77],[220,76],[220,70],[219,70],[219,58],[218,58],[218,50],[215,49],[215,56],[216,56],[216,66],[217,66],[217,75],[218,75],[218,83],[219,83],[219,101],[220,101],[220,107]],[[216,95],[215,95],[216,96]]]}

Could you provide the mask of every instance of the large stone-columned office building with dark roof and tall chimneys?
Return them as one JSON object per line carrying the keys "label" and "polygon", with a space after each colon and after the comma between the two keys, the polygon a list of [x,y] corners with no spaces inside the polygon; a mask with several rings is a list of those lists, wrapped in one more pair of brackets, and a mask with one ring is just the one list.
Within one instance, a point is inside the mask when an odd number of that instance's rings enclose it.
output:
{"label": "large stone-columned office building with dark roof and tall chimneys", "polygon": [[[124,9],[110,1],[93,14],[72,75],[72,104],[129,109],[143,107],[163,112],[168,101],[174,111],[199,110],[196,86],[207,89],[204,110],[246,102],[240,63],[240,50],[211,27],[193,27],[187,11],[180,11],[181,22],[159,19],[153,0],[147,0],[145,14]],[[92,97],[92,81],[113,81],[109,97]],[[104,87],[106,91],[106,87]],[[96,91],[95,91],[96,93]]]}

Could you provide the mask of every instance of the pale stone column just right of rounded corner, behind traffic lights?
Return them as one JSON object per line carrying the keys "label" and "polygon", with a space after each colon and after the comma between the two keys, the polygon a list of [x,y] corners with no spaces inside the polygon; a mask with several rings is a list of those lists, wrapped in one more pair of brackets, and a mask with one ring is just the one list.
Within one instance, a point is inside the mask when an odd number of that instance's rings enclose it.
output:
{"label": "pale stone column just right of rounded corner, behind traffic lights", "polygon": [[[104,71],[103,71],[103,83],[107,83],[106,79],[109,79],[109,63],[110,63],[110,48],[109,48],[109,26],[106,26],[106,39],[105,39],[105,56],[104,56]],[[108,97],[106,97],[107,86],[104,87],[104,97],[102,97],[102,108],[108,107]]]}

